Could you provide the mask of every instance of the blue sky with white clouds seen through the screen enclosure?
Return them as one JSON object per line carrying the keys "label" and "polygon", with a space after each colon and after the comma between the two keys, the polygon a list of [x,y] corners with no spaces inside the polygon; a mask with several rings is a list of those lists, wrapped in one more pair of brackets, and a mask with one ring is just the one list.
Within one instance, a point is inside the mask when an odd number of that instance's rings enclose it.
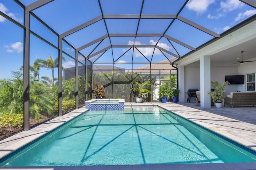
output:
{"label": "blue sky with white clouds seen through the screen enclosure", "polygon": [[[24,5],[28,5],[34,1],[35,0],[20,0]],[[142,14],[177,14],[184,2],[185,0],[145,0]],[[104,14],[140,14],[141,4],[142,0],[101,0],[102,11]],[[0,0],[0,11],[23,25],[24,12],[14,1]],[[33,12],[58,34],[62,34],[101,15],[98,0],[54,0]],[[200,24],[217,34],[221,34],[254,14],[256,14],[255,8],[252,8],[239,0],[190,0],[180,13],[180,16]],[[55,34],[46,29],[34,17],[31,17],[30,20],[30,28],[33,32],[58,47],[58,37]],[[162,33],[166,30],[171,20],[172,19],[142,19],[138,27],[138,33]],[[105,21],[110,34],[135,33],[138,24],[137,19],[106,19]],[[2,16],[0,16],[0,30],[0,78],[3,78],[10,76],[11,71],[18,71],[20,66],[23,65],[24,44],[22,35],[23,30]],[[104,21],[100,20],[79,32],[67,36],[65,39],[75,48],[78,48],[104,36],[105,34],[107,34],[107,32]],[[195,48],[213,38],[204,32],[184,24],[184,22],[181,22],[180,20],[175,20],[166,34]],[[135,42],[134,37],[111,37],[110,40],[112,45],[155,45],[158,42],[159,37],[138,37]],[[87,56],[97,45],[98,47],[96,50],[104,49],[110,45],[110,40],[109,38],[106,38],[100,45],[98,45],[98,43],[93,44],[90,47],[83,49],[81,52]],[[39,40],[35,36],[30,36],[30,41],[30,65],[32,65],[38,58],[47,59],[49,53],[54,58],[58,57],[58,50],[44,43],[42,40]],[[170,42],[174,45],[179,55],[184,55],[190,51],[190,49],[175,42]],[[162,38],[157,45],[177,54],[166,38]],[[128,49],[129,48],[113,48],[116,66],[131,69],[131,65],[125,63],[132,61],[130,57],[132,55],[132,50],[120,57]],[[63,50],[75,57],[75,51],[69,45],[63,44]],[[166,59],[159,50],[156,50],[153,58],[151,58],[154,48],[141,48],[139,50],[147,59],[152,59],[154,62]],[[134,50],[133,61],[148,62],[140,52]],[[173,57],[168,54],[166,55],[167,57]],[[65,58],[66,62],[63,63],[64,68],[75,66],[74,59],[68,56],[65,56]],[[112,62],[112,50],[108,49],[101,58],[97,58],[98,55],[92,57],[91,60],[96,61],[96,63]],[[79,60],[84,63],[82,57],[79,57]],[[42,68],[40,70],[40,76],[43,75],[50,77],[50,70]],[[57,75],[58,72],[56,69],[55,76],[57,77]]]}

